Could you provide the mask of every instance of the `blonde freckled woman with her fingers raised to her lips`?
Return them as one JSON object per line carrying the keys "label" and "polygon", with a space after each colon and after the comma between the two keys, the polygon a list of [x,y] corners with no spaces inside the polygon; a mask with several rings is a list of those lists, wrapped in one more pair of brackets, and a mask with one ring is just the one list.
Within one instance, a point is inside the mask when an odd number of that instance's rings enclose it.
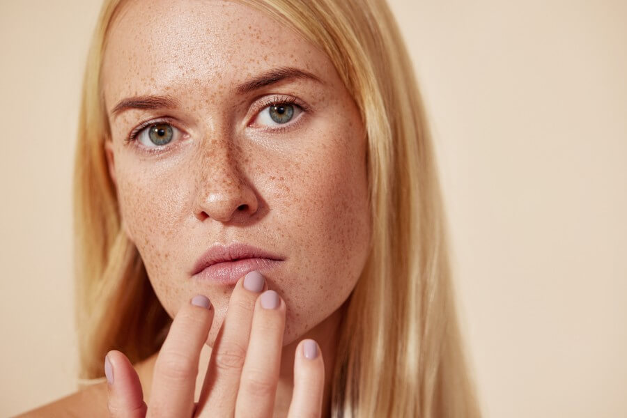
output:
{"label": "blonde freckled woman with her fingers raised to her lips", "polygon": [[35,413],[478,417],[436,173],[385,2],[105,1],[75,203],[107,381]]}

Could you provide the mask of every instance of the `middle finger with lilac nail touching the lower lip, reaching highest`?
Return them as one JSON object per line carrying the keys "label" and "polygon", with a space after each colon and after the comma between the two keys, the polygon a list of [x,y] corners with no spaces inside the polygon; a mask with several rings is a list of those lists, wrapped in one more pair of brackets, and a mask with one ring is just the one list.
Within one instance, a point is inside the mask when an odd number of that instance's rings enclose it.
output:
{"label": "middle finger with lilac nail touching the lower lip, reaching highest", "polygon": [[213,345],[198,410],[210,411],[214,417],[233,417],[255,302],[264,288],[267,285],[259,272],[249,272],[235,284]]}

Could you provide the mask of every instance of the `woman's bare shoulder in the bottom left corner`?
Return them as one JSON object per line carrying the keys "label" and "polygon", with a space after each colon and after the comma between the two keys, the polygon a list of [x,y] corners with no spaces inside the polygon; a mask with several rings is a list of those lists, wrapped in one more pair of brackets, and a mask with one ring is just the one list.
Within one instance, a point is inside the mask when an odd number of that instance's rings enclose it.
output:
{"label": "woman's bare shoulder in the bottom left corner", "polygon": [[25,412],[18,417],[109,417],[107,382],[91,385],[57,401]]}

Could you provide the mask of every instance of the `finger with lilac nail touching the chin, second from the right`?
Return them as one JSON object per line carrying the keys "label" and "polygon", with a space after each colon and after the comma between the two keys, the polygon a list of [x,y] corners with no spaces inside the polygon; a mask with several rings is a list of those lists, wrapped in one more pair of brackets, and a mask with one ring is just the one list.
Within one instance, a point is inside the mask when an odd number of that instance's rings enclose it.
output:
{"label": "finger with lilac nail touching the chin, second from the right", "polygon": [[258,297],[235,402],[235,417],[272,417],[285,312],[285,302],[277,292],[265,291]]}

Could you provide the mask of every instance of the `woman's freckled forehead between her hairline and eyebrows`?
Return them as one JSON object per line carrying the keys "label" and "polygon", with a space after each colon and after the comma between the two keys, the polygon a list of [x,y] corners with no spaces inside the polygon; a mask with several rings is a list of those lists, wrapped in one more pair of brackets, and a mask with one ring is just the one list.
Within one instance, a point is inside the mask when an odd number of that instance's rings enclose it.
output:
{"label": "woman's freckled forehead between her hairline and eyebrows", "polygon": [[235,1],[127,1],[107,38],[102,77],[107,106],[123,96],[230,91],[279,66],[332,77],[325,54],[288,26]]}

